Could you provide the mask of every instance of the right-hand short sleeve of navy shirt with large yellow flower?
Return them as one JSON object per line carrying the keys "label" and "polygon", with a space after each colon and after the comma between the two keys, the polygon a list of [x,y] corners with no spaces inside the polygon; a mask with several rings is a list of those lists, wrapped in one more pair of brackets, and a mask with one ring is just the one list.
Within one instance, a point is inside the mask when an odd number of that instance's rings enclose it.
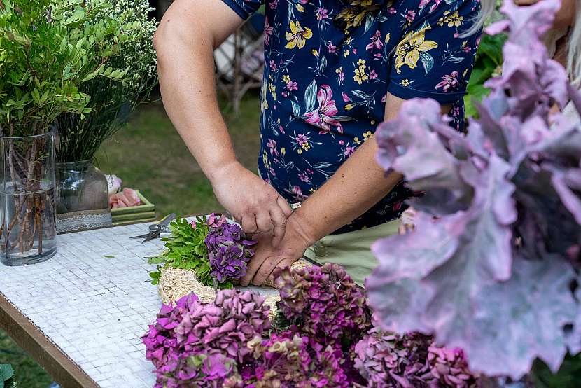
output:
{"label": "right-hand short sleeve of navy shirt with large yellow flower", "polygon": [[477,0],[422,1],[393,54],[388,92],[454,104],[465,95],[480,32],[463,36],[479,12]]}

